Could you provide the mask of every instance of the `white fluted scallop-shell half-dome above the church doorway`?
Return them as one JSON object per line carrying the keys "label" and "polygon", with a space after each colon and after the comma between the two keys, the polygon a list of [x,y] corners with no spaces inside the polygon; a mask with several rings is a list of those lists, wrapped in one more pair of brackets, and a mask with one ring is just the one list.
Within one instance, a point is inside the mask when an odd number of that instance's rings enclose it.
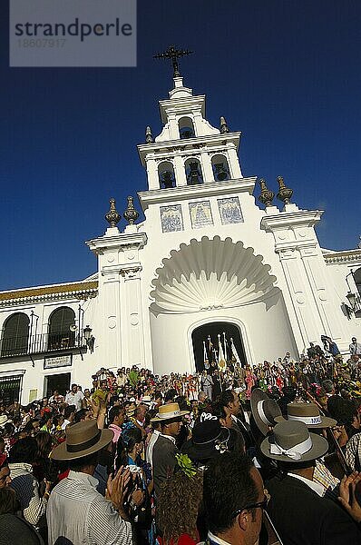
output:
{"label": "white fluted scallop-shell half-dome above the church doorway", "polygon": [[180,244],[156,270],[151,292],[154,313],[200,312],[265,301],[279,292],[262,256],[243,243],[219,236]]}

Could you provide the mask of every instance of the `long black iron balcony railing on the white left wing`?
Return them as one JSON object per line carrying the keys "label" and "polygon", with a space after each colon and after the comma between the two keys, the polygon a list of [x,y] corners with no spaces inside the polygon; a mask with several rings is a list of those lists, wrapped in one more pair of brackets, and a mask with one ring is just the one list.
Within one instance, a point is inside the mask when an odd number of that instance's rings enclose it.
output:
{"label": "long black iron balcony railing on the white left wing", "polygon": [[3,337],[0,340],[0,358],[26,356],[86,348],[83,335],[75,332],[38,333],[24,337]]}

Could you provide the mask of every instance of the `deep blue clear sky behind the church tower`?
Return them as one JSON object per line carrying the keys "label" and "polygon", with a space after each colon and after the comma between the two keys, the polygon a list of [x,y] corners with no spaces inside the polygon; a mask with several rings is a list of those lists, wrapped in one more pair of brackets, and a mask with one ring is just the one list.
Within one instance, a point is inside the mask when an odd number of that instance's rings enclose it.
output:
{"label": "deep blue clear sky behind the church tower", "polygon": [[321,245],[355,248],[360,16],[347,0],[139,0],[136,68],[9,68],[2,2],[0,290],[96,270],[83,242],[104,232],[109,198],[122,213],[146,189],[136,144],[147,124],[161,132],[157,101],[172,84],[152,55],[173,43],[195,52],[180,69],[207,94],[210,123],[224,115],[242,131],[244,175],[272,189],[283,175],[298,206],[326,211]]}

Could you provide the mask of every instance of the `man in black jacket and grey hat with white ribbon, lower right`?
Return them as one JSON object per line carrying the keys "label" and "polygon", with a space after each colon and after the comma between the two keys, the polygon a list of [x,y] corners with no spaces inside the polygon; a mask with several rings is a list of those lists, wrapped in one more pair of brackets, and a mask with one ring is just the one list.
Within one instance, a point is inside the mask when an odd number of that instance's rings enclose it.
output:
{"label": "man in black jacket and grey hat with white ribbon, lower right", "polygon": [[280,473],[266,483],[268,512],[284,543],[345,545],[358,543],[355,522],[313,480],[315,461],[328,450],[326,439],[310,433],[302,421],[282,421],[260,445],[278,462]]}

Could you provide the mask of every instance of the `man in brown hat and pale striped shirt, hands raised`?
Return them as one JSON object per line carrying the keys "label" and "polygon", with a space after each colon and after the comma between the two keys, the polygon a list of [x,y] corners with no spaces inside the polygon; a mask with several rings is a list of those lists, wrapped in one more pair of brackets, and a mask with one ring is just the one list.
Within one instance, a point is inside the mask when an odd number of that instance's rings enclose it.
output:
{"label": "man in brown hat and pale striped shirt, hands raised", "polygon": [[111,441],[112,430],[98,430],[95,420],[81,421],[68,426],[66,441],[51,453],[53,460],[66,461],[70,472],[50,495],[46,513],[49,545],[60,541],[132,544],[132,525],[125,521],[122,505],[130,471],[120,470],[108,480],[107,498],[95,490],[98,454]]}

